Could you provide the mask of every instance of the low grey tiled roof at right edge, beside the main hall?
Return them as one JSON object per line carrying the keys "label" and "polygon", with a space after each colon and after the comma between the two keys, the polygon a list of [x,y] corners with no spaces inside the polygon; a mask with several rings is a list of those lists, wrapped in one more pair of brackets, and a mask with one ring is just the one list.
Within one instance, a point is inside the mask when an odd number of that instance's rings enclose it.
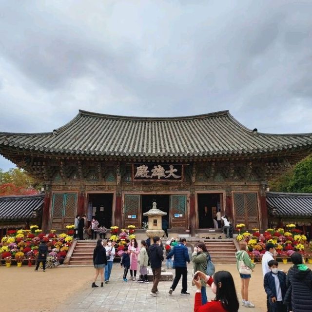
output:
{"label": "low grey tiled roof at right edge, beside the main hall", "polygon": [[278,216],[312,217],[312,193],[267,192],[268,209],[275,208]]}

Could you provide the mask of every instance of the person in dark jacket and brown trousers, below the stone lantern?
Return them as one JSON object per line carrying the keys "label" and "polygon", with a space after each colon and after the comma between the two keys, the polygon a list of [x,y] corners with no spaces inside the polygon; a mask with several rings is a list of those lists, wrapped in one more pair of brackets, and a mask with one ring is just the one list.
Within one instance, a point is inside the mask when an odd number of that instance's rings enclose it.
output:
{"label": "person in dark jacket and brown trousers, below the stone lantern", "polygon": [[154,244],[148,249],[148,256],[151,262],[151,268],[153,272],[153,287],[150,295],[156,297],[158,295],[158,283],[161,274],[161,262],[164,260],[163,251],[160,244],[160,238],[158,236],[153,237]]}

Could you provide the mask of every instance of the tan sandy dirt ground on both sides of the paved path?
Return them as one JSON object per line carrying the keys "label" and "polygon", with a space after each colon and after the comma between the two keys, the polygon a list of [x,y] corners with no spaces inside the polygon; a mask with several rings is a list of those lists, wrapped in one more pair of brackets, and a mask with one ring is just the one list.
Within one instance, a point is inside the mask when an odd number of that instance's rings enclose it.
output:
{"label": "tan sandy dirt ground on both sides of the paved path", "polygon": [[[291,264],[279,264],[279,268],[285,270],[285,272],[290,266]],[[312,269],[312,265],[308,264],[308,266]],[[188,269],[189,272],[192,271],[192,263]],[[219,265],[216,266],[216,270],[226,270],[233,274],[237,294],[240,297],[240,278],[235,265]],[[119,270],[114,271],[119,272]],[[12,266],[6,268],[1,266],[0,311],[51,312],[55,307],[70,298],[74,292],[77,293],[79,290],[90,287],[93,274],[94,269],[92,267],[59,267],[52,270],[47,269],[46,272],[34,272],[34,267],[23,266],[17,268]],[[261,264],[257,264],[250,281],[250,300],[257,308],[261,309],[260,311],[266,311],[266,295],[262,281]],[[190,278],[188,282],[190,285]],[[189,291],[191,295],[194,295],[194,288],[189,287]]]}

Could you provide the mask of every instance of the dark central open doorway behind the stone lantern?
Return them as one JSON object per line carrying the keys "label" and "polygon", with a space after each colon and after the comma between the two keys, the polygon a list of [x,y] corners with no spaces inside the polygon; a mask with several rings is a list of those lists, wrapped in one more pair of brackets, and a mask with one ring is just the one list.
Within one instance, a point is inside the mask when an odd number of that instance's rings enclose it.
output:
{"label": "dark central open doorway behind the stone lantern", "polygon": [[148,217],[143,215],[148,212],[153,207],[153,202],[156,202],[157,208],[167,215],[164,215],[162,218],[168,221],[168,228],[170,228],[169,223],[169,206],[170,206],[170,195],[142,195],[142,222],[147,222]]}

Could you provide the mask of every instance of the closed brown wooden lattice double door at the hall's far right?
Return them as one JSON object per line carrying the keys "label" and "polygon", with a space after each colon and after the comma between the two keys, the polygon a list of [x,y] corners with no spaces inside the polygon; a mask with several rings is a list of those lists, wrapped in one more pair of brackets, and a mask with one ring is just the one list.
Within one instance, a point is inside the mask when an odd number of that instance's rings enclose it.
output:
{"label": "closed brown wooden lattice double door at the hall's far right", "polygon": [[256,193],[234,194],[234,219],[236,223],[244,223],[248,229],[258,228],[258,200]]}

